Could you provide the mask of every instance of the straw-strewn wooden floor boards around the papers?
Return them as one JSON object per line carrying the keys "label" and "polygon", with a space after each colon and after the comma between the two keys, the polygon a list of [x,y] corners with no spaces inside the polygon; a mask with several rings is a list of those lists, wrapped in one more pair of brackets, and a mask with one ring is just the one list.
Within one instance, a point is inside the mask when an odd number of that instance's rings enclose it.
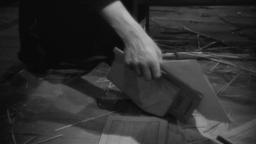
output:
{"label": "straw-strewn wooden floor boards around the papers", "polygon": [[[170,33],[185,26],[193,31],[200,31],[202,28],[200,32],[212,38],[225,40],[234,46],[245,45],[244,49],[239,48],[238,52],[254,56],[252,52],[255,52],[256,38],[255,28],[252,25],[255,26],[256,22],[255,7],[224,9],[222,7],[152,8],[150,11],[150,33],[156,40],[169,40],[168,44],[166,44],[167,41],[161,43],[169,45],[169,49],[161,45],[164,52],[173,51],[170,47],[177,43],[179,43],[177,45],[179,49],[188,51],[198,49],[195,46],[198,44],[196,35],[179,33],[179,35],[173,36]],[[106,63],[100,63],[97,68],[86,75],[84,73],[87,70],[81,68],[50,70],[46,74],[28,72],[17,59],[20,47],[18,12],[19,3],[0,7],[0,143],[14,143],[14,138],[17,143],[24,143],[38,136],[31,141],[31,143],[36,143],[59,134],[63,134],[63,136],[45,143],[99,143],[107,116],[69,127],[63,131],[54,132],[54,130],[116,110],[118,112],[111,115],[148,116],[141,112],[131,100],[122,99],[124,94],[117,88],[107,90],[109,81],[106,81],[106,75],[109,66]],[[241,17],[238,21],[239,24],[250,26],[250,29],[231,33],[230,28],[237,27],[234,24],[230,26],[220,17],[213,16],[220,13],[229,22],[236,17]],[[185,17],[185,14],[188,15]],[[205,21],[205,19],[207,20]],[[232,23],[236,22],[232,21]],[[212,39],[205,40],[203,38],[200,45],[203,47],[211,41]],[[234,54],[237,51],[225,52]],[[246,57],[228,60],[250,70],[256,70],[255,59]],[[211,130],[209,136],[216,136],[256,118],[255,73],[221,63],[213,68],[216,61],[211,60],[200,59],[198,62],[216,92],[232,81],[237,74],[240,74],[219,96],[225,110],[234,122],[225,125],[225,129],[221,129],[223,125],[220,125],[220,131]],[[212,70],[211,73],[210,70]],[[200,134],[198,129],[188,129],[188,125],[180,124],[170,116],[166,116],[165,119],[170,122],[169,131],[173,132],[173,127],[181,129],[180,143],[195,142],[207,137]],[[209,123],[205,127],[210,129],[212,124]],[[179,132],[176,133],[179,134]],[[169,138],[172,138],[171,134]],[[169,141],[171,140],[169,139]],[[214,141],[203,143],[214,143]]]}

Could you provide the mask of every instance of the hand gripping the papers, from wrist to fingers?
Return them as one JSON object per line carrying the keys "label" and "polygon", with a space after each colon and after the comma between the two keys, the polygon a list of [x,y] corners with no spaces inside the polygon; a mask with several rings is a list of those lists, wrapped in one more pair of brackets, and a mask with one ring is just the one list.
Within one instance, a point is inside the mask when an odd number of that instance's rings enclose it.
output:
{"label": "hand gripping the papers, from wrist to fingers", "polygon": [[124,56],[125,64],[137,76],[143,76],[147,81],[161,77],[159,63],[162,61],[162,52],[146,33],[132,36],[128,43],[126,41]]}

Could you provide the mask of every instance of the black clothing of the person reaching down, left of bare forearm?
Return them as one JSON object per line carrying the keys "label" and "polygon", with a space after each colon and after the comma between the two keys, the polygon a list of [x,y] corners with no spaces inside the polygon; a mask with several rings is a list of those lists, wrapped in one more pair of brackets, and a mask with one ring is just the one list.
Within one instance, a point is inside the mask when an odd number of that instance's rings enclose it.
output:
{"label": "black clothing of the person reaching down, left of bare forearm", "polygon": [[[21,0],[19,59],[40,70],[63,59],[112,55],[122,40],[97,10],[116,0]],[[131,10],[131,0],[122,1]]]}

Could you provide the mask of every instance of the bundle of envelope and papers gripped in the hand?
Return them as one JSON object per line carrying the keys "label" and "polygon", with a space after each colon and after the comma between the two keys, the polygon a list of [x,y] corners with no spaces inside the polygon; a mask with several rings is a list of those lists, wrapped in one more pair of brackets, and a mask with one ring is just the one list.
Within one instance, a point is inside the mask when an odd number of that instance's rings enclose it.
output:
{"label": "bundle of envelope and papers gripped in the hand", "polygon": [[145,81],[125,65],[120,49],[114,52],[115,61],[107,78],[143,111],[156,116],[170,114],[188,122],[197,109],[209,120],[231,122],[196,60],[163,61],[163,76]]}

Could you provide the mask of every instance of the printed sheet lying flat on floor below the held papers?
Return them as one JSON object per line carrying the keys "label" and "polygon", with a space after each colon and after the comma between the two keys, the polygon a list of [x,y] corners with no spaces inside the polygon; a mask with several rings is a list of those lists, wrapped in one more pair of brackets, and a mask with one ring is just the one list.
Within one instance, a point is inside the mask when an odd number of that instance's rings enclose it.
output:
{"label": "printed sheet lying flat on floor below the held papers", "polygon": [[99,144],[164,144],[166,129],[156,117],[108,116]]}

